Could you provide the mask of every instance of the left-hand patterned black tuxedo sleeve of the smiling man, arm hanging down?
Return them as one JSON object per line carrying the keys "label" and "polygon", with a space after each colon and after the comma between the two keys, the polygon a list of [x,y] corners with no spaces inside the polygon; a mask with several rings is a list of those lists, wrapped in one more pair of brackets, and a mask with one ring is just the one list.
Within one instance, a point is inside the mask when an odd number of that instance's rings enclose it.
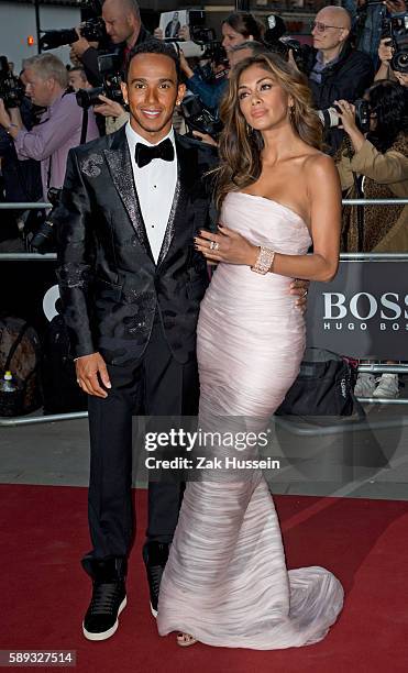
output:
{"label": "left-hand patterned black tuxedo sleeve of the smiling man, arm hanging down", "polygon": [[89,195],[74,150],[69,151],[60,203],[53,213],[57,236],[57,278],[71,354],[96,352],[90,328],[89,289],[93,245]]}

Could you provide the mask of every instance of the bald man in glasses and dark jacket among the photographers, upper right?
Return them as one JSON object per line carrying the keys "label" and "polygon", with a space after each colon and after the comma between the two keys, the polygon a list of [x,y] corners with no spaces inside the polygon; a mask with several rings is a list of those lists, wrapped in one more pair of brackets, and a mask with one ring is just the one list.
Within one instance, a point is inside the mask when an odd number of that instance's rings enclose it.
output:
{"label": "bald man in glasses and dark jacket among the photographers, upper right", "polygon": [[[350,44],[351,16],[342,7],[324,7],[312,25],[315,55],[309,70],[309,84],[319,110],[335,100],[353,102],[363,96],[374,79],[373,62],[367,54]],[[326,142],[334,154],[343,140],[343,131],[330,129]]]}

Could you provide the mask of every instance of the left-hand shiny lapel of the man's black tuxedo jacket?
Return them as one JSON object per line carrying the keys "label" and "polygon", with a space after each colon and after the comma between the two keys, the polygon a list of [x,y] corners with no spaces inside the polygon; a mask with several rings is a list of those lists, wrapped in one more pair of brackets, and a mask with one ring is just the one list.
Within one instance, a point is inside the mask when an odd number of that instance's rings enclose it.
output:
{"label": "left-hand shiny lapel of the man's black tuxedo jacket", "polygon": [[124,126],[113,135],[111,147],[109,150],[104,150],[103,153],[112,181],[128,212],[137,238],[147,255],[153,260],[137,192],[134,186],[132,162]]}

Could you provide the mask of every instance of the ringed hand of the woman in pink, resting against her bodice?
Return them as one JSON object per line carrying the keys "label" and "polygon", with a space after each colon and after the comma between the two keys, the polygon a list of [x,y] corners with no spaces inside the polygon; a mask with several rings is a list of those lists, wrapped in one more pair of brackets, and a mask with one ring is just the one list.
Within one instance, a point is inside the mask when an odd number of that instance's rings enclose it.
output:
{"label": "ringed hand of the woman in pink, resting against her bodice", "polygon": [[218,230],[218,234],[201,230],[195,238],[196,250],[211,262],[254,266],[260,249],[228,227],[219,224]]}

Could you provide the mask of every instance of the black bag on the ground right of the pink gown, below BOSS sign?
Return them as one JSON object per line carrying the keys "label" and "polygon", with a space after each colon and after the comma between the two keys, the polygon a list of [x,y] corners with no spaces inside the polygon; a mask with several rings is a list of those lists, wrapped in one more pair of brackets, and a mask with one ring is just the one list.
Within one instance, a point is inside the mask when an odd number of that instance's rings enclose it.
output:
{"label": "black bag on the ground right of the pink gown, below BOSS sign", "polygon": [[306,349],[300,372],[286,394],[279,416],[365,416],[354,396],[356,369],[323,349]]}

